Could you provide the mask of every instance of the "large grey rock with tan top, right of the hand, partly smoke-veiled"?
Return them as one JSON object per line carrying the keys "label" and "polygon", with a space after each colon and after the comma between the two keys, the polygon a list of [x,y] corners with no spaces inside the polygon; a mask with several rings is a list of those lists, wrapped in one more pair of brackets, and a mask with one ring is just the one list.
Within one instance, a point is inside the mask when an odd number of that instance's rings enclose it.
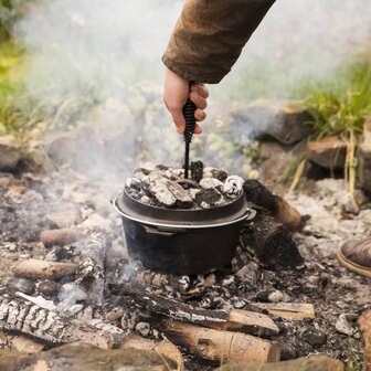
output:
{"label": "large grey rock with tan top, right of the hand, partly smoke-veiled", "polygon": [[235,120],[257,128],[257,134],[268,135],[284,145],[292,145],[308,137],[314,118],[300,100],[256,100],[235,110]]}

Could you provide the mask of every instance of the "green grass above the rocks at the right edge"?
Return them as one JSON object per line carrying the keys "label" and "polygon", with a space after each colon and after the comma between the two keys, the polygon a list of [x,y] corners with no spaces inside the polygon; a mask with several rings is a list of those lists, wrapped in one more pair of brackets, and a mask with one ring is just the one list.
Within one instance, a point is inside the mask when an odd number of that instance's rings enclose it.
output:
{"label": "green grass above the rocks at the right edge", "polygon": [[315,117],[314,138],[360,135],[371,114],[371,52],[353,57],[324,82],[298,89]]}

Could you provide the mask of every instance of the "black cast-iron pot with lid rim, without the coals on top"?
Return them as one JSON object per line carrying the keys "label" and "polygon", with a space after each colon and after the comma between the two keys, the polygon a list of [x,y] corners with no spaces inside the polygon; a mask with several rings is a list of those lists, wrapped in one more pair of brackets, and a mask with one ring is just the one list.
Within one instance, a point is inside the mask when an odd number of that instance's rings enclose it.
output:
{"label": "black cast-iron pot with lid rim, without the coals on top", "polygon": [[254,216],[243,194],[218,208],[180,210],[144,204],[124,191],[113,205],[123,216],[130,257],[149,269],[177,275],[227,265],[244,222]]}

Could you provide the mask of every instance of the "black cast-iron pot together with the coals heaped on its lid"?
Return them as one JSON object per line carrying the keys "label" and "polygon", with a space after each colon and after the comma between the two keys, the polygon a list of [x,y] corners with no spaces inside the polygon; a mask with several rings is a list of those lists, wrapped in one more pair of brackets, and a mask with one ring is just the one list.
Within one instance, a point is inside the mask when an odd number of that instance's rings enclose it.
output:
{"label": "black cast-iron pot together with the coals heaped on its lid", "polygon": [[242,188],[231,187],[233,178],[223,183],[206,177],[183,188],[174,176],[181,170],[160,167],[145,172],[137,171],[140,179],[130,179],[113,200],[129,255],[147,268],[180,275],[227,265],[244,222],[254,216]]}

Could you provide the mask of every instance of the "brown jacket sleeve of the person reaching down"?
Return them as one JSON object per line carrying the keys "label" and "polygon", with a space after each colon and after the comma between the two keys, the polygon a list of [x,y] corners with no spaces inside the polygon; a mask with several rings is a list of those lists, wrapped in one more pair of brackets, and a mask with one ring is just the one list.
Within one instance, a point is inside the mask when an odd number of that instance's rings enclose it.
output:
{"label": "brown jacket sleeve of the person reaching down", "polygon": [[188,81],[219,83],[275,0],[187,0],[162,57]]}

